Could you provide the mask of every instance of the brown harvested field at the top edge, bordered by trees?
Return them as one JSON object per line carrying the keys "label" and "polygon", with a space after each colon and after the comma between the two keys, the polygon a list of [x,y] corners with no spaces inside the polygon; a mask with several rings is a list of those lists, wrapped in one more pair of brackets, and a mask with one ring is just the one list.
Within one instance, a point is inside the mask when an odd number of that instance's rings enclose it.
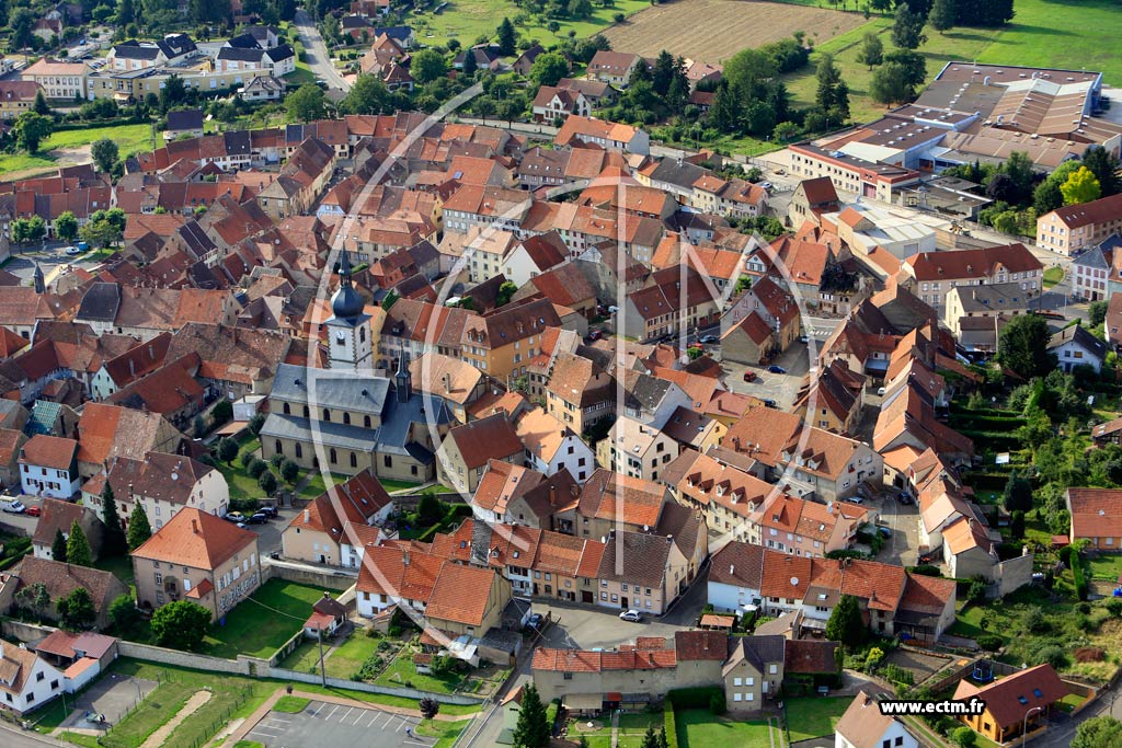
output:
{"label": "brown harvested field at the top edge, bordered by trees", "polygon": [[618,52],[674,55],[721,63],[745,47],[758,47],[806,31],[820,44],[864,25],[861,13],[751,0],[679,0],[652,6],[603,34]]}

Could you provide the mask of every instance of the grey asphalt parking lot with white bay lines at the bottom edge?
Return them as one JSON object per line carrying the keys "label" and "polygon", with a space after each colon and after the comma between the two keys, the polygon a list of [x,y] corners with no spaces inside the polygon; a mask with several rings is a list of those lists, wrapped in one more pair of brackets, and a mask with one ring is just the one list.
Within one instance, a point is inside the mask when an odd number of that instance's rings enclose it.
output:
{"label": "grey asphalt parking lot with white bay lines at the bottom edge", "polygon": [[321,748],[322,746],[369,746],[399,748],[432,746],[433,738],[410,735],[420,720],[378,709],[347,707],[313,701],[304,711],[292,714],[269,712],[254,726],[246,738],[265,746]]}

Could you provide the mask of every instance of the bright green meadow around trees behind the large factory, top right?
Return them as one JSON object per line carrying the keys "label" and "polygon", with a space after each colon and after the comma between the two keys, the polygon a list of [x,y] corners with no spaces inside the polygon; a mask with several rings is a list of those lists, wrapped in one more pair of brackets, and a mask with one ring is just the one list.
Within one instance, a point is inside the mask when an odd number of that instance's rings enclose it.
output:
{"label": "bright green meadow around trees behind the large factory, top right", "polygon": [[[792,1],[792,0],[789,0]],[[795,4],[818,4],[793,0]],[[857,62],[861,39],[875,31],[891,50],[892,18],[875,17],[864,26],[815,46],[811,65],[784,76],[792,104],[813,103],[816,80],[813,64],[824,53],[833,54],[849,86],[849,103],[855,122],[867,122],[885,112],[868,98],[872,73]],[[1017,0],[1017,17],[1002,29],[956,28],[939,34],[926,29],[928,40],[919,47],[927,58],[927,79],[931,81],[950,61],[977,61],[999,65],[1052,66],[1102,71],[1106,83],[1122,84],[1122,55],[1112,52],[1122,34],[1122,13],[1113,0]]]}

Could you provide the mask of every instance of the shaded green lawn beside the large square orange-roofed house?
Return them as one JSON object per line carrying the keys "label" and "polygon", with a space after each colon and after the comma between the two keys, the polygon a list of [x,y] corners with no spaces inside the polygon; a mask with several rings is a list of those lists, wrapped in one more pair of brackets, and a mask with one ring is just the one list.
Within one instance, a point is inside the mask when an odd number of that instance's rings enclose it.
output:
{"label": "shaded green lawn beside the large square orange-roofed house", "polygon": [[227,615],[226,626],[211,627],[205,654],[228,659],[239,654],[272,657],[301,629],[322,594],[315,587],[270,579]]}

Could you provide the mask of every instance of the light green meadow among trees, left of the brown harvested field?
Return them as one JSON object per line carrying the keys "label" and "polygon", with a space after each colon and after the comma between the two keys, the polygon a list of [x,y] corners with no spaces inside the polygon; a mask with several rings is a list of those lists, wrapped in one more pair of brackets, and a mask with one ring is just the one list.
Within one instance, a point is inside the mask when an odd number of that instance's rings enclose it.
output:
{"label": "light green meadow among trees, left of the brown harvested field", "polygon": [[[560,20],[561,28],[557,36],[551,34],[537,19],[525,22],[515,20],[521,12],[512,0],[452,0],[439,15],[431,11],[416,12],[406,18],[420,41],[426,45],[444,45],[451,38],[457,38],[468,46],[478,36],[494,37],[503,17],[509,18],[522,37],[537,39],[542,46],[549,46],[569,35],[570,29],[577,31],[579,38],[592,36],[614,24],[616,13],[631,16],[650,7],[647,0],[616,0],[613,7],[603,8],[594,3],[592,17],[583,21]],[[430,36],[430,34],[432,36]]]}

